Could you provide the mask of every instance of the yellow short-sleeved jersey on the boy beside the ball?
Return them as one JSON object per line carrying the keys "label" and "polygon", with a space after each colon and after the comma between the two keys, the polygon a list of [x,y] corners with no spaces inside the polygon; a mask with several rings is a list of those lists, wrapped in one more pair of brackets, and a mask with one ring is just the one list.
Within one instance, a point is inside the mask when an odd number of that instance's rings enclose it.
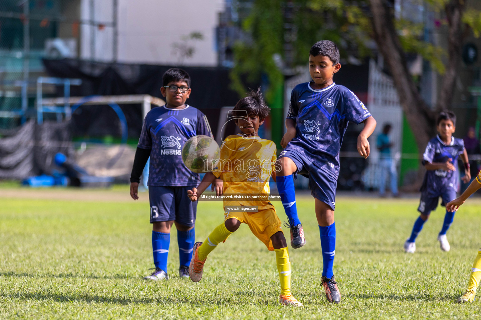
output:
{"label": "yellow short-sleeved jersey on the boy beside the ball", "polygon": [[[224,194],[269,195],[269,178],[276,162],[276,144],[260,137],[230,135],[222,143],[220,160],[212,173],[224,181]],[[224,205],[256,205],[259,209],[273,207],[265,201],[224,199]]]}

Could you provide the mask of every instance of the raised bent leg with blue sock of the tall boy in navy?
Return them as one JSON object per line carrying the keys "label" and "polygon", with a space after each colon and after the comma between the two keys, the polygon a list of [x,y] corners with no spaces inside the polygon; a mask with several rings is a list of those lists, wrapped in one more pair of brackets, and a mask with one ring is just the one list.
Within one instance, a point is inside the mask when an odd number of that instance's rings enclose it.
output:
{"label": "raised bent leg with blue sock of the tall boy in navy", "polygon": [[291,228],[291,247],[294,249],[301,248],[305,245],[304,229],[297,216],[294,178],[292,178],[292,173],[297,170],[297,167],[292,159],[287,156],[279,158],[278,165],[280,171],[276,176],[276,184]]}

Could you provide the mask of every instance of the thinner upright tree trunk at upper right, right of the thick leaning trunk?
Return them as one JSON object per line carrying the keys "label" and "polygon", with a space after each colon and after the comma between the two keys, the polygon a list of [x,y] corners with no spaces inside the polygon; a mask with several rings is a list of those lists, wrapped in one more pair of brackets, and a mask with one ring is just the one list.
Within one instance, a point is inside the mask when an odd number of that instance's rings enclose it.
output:
{"label": "thinner upright tree trunk at upper right, right of the thick leaning trunk", "polygon": [[462,16],[465,7],[466,0],[451,0],[444,7],[448,22],[448,61],[441,85],[441,93],[436,103],[436,111],[438,112],[449,109],[453,102],[456,71],[461,60],[461,47],[464,39]]}

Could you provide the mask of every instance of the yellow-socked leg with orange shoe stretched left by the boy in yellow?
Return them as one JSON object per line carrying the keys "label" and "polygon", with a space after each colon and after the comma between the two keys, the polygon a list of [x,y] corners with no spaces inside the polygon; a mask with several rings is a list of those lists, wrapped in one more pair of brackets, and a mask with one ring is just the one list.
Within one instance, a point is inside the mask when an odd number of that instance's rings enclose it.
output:
{"label": "yellow-socked leg with orange shoe stretched left by the boy in yellow", "polygon": [[[232,219],[229,219],[232,220]],[[237,220],[238,221],[238,220]],[[238,221],[239,222],[239,221]],[[239,222],[240,225],[240,222]],[[239,227],[239,226],[238,226]],[[225,223],[217,225],[204,242],[196,242],[189,266],[190,280],[199,282],[202,279],[204,263],[207,255],[214,250],[219,243],[227,239],[232,232],[229,231]]]}

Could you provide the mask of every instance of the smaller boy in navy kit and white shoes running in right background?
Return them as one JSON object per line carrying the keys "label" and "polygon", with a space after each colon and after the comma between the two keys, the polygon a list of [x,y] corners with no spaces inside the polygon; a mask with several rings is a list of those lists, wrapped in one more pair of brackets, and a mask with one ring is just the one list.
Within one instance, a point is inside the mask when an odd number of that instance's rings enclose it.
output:
{"label": "smaller boy in navy kit and white shoes running in right background", "polygon": [[[421,200],[418,207],[420,215],[414,223],[411,237],[404,244],[404,250],[408,253],[416,251],[416,237],[428,220],[431,211],[438,206],[439,197],[443,200],[441,203],[443,206],[456,199],[459,178],[456,166],[459,155],[464,162],[466,174],[462,179],[465,183],[471,179],[468,153],[464,148],[464,142],[462,139],[453,137],[456,130],[456,115],[451,111],[443,111],[439,114],[436,125],[439,134],[428,142],[423,154],[422,164],[426,168],[426,174],[421,186]],[[451,249],[446,231],[453,223],[454,214],[455,212],[446,210],[443,227],[438,235],[443,251]]]}

